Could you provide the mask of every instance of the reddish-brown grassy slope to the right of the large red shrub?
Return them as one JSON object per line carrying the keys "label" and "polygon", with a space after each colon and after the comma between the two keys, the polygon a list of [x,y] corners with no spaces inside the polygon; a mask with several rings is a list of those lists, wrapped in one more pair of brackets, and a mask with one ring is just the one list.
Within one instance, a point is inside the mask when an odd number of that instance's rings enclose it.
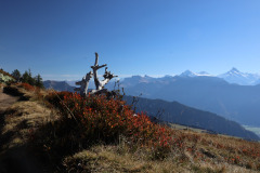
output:
{"label": "reddish-brown grassy slope to the right of the large red shrub", "polygon": [[184,141],[186,150],[194,160],[260,171],[260,143],[258,142],[193,131],[179,131],[179,135],[186,136]]}

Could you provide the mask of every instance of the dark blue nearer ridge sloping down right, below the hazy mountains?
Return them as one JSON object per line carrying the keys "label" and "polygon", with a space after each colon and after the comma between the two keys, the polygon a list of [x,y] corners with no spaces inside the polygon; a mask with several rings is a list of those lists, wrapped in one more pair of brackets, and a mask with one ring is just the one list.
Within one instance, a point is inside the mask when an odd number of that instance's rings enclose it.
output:
{"label": "dark blue nearer ridge sloping down right, below the hazy mountains", "polygon": [[[127,104],[132,104],[132,96],[125,96]],[[178,102],[162,99],[138,98],[136,112],[144,111],[160,121],[205,129],[210,132],[237,136],[248,139],[259,139],[255,133],[245,130],[240,124],[209,111],[198,110]]]}

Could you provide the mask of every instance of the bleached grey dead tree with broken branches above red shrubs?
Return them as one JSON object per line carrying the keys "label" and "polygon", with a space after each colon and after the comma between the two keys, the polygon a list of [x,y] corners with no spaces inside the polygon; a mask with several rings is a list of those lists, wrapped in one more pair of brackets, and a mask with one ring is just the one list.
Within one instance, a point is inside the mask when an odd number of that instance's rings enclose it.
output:
{"label": "bleached grey dead tree with broken branches above red shrubs", "polygon": [[91,66],[93,72],[92,71],[88,72],[80,82],[76,82],[76,84],[80,85],[80,88],[75,89],[75,91],[80,91],[80,95],[87,96],[90,79],[92,77],[94,77],[95,90],[91,90],[90,94],[107,94],[108,91],[106,89],[104,89],[104,85],[107,84],[110,79],[113,79],[117,76],[110,74],[110,71],[107,71],[107,67],[106,67],[105,74],[103,75],[104,80],[100,81],[99,77],[98,77],[98,70],[105,66],[106,66],[106,64],[104,64],[102,66],[99,65],[99,54],[95,52],[95,64],[94,64],[94,66]]}

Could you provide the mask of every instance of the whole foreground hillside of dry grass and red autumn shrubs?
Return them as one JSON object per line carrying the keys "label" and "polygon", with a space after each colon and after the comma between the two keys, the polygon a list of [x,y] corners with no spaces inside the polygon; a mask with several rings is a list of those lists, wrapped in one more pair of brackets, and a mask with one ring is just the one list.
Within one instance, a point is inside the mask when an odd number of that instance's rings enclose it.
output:
{"label": "whole foreground hillside of dry grass and red autumn shrubs", "polygon": [[27,84],[4,91],[22,101],[1,114],[0,172],[260,171],[256,142],[160,127],[120,99]]}

